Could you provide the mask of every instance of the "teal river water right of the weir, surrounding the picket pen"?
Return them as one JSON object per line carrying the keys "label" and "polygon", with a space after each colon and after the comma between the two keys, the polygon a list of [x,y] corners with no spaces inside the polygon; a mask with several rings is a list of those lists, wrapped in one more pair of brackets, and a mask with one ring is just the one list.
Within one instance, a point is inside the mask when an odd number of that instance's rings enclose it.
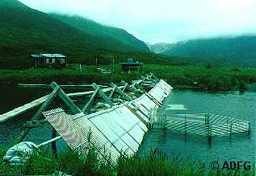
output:
{"label": "teal river water right of the weir, surrounding the picket pen", "polygon": [[184,104],[187,110],[167,111],[172,113],[214,113],[239,118],[252,123],[252,133],[232,135],[229,137],[213,137],[212,145],[208,145],[206,137],[187,136],[174,133],[170,129],[153,129],[145,135],[145,141],[139,153],[145,154],[158,149],[173,158],[201,161],[205,164],[223,162],[255,162],[256,160],[256,92],[206,93],[191,91],[174,91],[164,102],[168,104]]}

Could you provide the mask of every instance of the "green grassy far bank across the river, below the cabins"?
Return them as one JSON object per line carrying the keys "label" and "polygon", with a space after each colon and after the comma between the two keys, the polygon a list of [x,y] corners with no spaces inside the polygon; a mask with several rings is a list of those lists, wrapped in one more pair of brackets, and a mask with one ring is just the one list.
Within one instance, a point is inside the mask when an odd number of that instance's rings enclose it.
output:
{"label": "green grassy far bank across the river, below the cabins", "polygon": [[[134,80],[138,74],[120,72],[119,65],[114,66],[115,73],[103,75],[96,68],[113,69],[111,65],[83,66],[82,71],[76,68],[65,70],[28,69],[25,71],[1,70],[0,83],[15,85],[18,83],[49,84],[52,80],[59,84],[80,84]],[[174,88],[197,88],[207,91],[246,90],[246,84],[256,82],[256,68],[212,68],[204,66],[174,66],[145,64],[145,73],[153,72],[157,77],[167,80]]]}

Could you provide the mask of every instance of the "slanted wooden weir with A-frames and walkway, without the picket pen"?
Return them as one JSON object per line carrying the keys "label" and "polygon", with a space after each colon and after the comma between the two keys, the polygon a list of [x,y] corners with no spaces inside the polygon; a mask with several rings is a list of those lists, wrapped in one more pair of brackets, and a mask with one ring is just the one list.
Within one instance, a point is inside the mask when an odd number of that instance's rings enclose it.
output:
{"label": "slanted wooden weir with A-frames and walkway, without the picket pen", "polygon": [[[145,92],[151,81],[154,87]],[[100,158],[116,161],[122,154],[132,155],[141,145],[144,134],[148,131],[152,121],[149,118],[151,108],[162,106],[162,101],[171,92],[171,87],[164,80],[158,80],[153,74],[142,77],[142,80],[132,81],[129,85],[124,80],[120,86],[113,83],[110,88],[100,88],[91,84],[94,91],[65,94],[61,87],[52,82],[53,91],[47,96],[24,104],[0,116],[0,122],[7,121],[27,112],[31,108],[40,106],[37,113],[25,125],[18,142],[23,141],[28,131],[40,123],[49,122],[52,125],[52,142],[63,138],[73,150],[86,153],[87,149],[94,147]],[[74,96],[90,96],[82,108],[70,99]],[[48,110],[56,97],[63,100],[69,111],[63,108]],[[45,119],[42,119],[41,115]],[[61,137],[57,137],[57,133]],[[91,135],[90,141],[88,136]],[[48,142],[46,142],[48,143]],[[56,145],[52,145],[56,152]]]}

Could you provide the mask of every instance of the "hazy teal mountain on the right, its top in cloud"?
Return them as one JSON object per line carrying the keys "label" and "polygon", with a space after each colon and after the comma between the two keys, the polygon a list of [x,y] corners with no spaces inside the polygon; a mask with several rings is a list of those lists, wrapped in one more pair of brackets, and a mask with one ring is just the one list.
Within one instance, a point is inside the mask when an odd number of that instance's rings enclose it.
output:
{"label": "hazy teal mountain on the right, its top in cloud", "polygon": [[195,39],[176,43],[162,54],[183,57],[192,63],[256,67],[256,36]]}

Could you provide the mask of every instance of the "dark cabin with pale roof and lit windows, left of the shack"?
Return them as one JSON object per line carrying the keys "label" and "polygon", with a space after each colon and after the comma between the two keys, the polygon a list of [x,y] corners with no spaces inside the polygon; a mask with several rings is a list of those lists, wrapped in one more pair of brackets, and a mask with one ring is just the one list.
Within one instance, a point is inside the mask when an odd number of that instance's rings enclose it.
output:
{"label": "dark cabin with pale roof and lit windows, left of the shack", "polygon": [[67,57],[61,54],[31,55],[36,68],[67,68]]}

